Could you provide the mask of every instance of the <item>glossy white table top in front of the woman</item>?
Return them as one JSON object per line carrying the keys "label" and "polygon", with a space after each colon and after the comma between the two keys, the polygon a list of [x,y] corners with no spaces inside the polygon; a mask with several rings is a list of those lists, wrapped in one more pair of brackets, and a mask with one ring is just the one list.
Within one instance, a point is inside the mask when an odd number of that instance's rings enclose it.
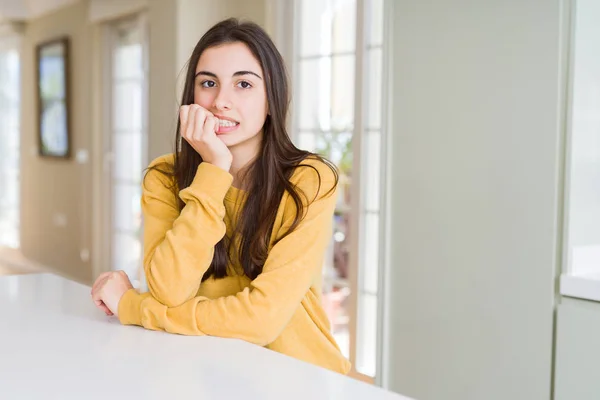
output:
{"label": "glossy white table top in front of the woman", "polygon": [[407,399],[240,340],[122,326],[90,288],[0,277],[1,399]]}

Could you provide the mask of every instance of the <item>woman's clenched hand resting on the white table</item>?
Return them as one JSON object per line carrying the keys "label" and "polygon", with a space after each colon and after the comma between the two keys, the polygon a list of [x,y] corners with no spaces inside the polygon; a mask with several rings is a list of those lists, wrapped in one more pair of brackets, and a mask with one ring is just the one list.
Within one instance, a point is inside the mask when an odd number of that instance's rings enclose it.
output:
{"label": "woman's clenched hand resting on the white table", "polygon": [[119,301],[133,285],[124,271],[110,271],[100,274],[92,286],[92,300],[106,315],[119,312]]}

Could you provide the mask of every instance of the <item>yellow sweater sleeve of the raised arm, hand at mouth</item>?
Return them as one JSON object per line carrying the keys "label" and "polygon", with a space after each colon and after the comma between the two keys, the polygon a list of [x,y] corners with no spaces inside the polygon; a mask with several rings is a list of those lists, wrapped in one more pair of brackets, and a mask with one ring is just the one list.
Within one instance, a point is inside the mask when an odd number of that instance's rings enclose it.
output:
{"label": "yellow sweater sleeve of the raised arm, hand at mouth", "polygon": [[[152,164],[151,164],[152,166]],[[198,166],[192,184],[177,198],[156,170],[146,175],[142,193],[144,272],[150,294],[175,307],[194,298],[225,235],[223,199],[233,177],[208,163]]]}

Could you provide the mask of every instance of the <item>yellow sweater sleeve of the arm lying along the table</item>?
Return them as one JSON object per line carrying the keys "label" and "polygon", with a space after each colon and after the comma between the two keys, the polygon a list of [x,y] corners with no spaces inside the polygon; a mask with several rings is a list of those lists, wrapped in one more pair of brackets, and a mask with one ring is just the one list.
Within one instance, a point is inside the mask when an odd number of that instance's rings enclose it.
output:
{"label": "yellow sweater sleeve of the arm lying along the table", "polygon": [[[331,240],[336,202],[334,177],[328,167],[319,170],[321,184],[308,176],[316,176],[314,172],[307,172],[302,178],[310,182],[312,194],[316,193],[311,197],[311,191],[305,191],[310,204],[304,218],[292,233],[273,246],[263,272],[250,287],[212,300],[196,297],[178,307],[161,304],[152,295],[131,289],[119,303],[121,323],[178,334],[238,338],[261,346],[274,341],[311,285],[320,279],[323,256]],[[289,226],[295,215],[289,197],[285,208],[283,227]]]}

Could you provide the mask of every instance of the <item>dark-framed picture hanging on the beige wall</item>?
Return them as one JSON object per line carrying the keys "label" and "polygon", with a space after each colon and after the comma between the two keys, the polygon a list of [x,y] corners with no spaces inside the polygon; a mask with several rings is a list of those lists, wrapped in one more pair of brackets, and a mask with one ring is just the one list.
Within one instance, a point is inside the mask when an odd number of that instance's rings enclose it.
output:
{"label": "dark-framed picture hanging on the beige wall", "polygon": [[36,46],[36,72],[40,156],[70,158],[68,37]]}

